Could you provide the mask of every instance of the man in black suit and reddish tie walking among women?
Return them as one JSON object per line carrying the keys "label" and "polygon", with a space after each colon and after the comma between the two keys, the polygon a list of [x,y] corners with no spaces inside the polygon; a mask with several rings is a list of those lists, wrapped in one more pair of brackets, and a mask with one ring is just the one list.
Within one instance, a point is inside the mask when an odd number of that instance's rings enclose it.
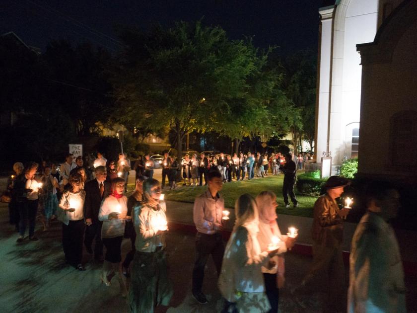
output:
{"label": "man in black suit and reddish tie walking among women", "polygon": [[93,254],[92,243],[94,244],[94,259],[103,261],[103,242],[101,240],[101,227],[103,222],[98,220],[101,202],[111,193],[111,183],[106,181],[106,167],[99,165],[94,168],[96,178],[85,184],[84,219],[85,237],[84,245],[89,254]]}

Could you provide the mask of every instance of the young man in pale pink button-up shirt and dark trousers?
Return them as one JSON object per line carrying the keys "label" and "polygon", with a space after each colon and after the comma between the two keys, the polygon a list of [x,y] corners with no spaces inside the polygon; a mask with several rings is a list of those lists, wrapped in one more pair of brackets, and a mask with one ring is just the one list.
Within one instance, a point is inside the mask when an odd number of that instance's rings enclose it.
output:
{"label": "young man in pale pink button-up shirt and dark trousers", "polygon": [[224,211],[224,199],[219,191],[223,187],[220,172],[212,170],[208,174],[209,186],[203,194],[194,201],[193,219],[197,228],[196,235],[196,262],[193,269],[193,296],[201,304],[207,303],[204,295],[203,280],[204,269],[211,254],[217,270],[220,274],[221,262],[224,253],[224,244],[221,230],[227,220],[222,219]]}

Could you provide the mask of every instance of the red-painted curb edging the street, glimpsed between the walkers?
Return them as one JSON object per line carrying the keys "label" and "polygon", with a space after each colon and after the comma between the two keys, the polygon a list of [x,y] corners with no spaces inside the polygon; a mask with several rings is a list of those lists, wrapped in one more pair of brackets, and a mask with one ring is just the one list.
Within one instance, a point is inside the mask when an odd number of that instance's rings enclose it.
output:
{"label": "red-painted curb edging the street, glimpsed between the walkers", "polygon": [[[194,225],[190,224],[182,224],[177,222],[168,222],[169,230],[171,231],[178,231],[182,233],[187,234],[196,234],[197,230]],[[231,232],[229,231],[223,231],[222,236],[225,241],[227,241],[230,237]],[[292,249],[291,252],[301,254],[301,255],[307,255],[307,256],[313,256],[313,249],[311,244],[305,244],[305,243],[296,243]],[[349,264],[349,251],[343,251],[343,261],[345,262],[345,265]],[[403,267],[404,267],[404,273],[406,276],[409,277],[415,277],[417,278],[417,263],[416,262],[410,262],[410,261],[403,261]]]}

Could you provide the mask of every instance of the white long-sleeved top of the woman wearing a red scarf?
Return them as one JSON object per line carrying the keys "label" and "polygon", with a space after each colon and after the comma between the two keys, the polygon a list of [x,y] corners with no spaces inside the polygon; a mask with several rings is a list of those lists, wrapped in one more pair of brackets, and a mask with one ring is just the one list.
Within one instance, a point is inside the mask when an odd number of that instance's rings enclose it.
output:
{"label": "white long-sleeved top of the woman wearing a red scarf", "polygon": [[98,220],[103,222],[101,227],[102,238],[114,238],[123,236],[125,233],[125,220],[112,219],[109,220],[109,214],[127,213],[128,212],[128,198],[126,196],[120,199],[110,195],[101,203],[100,211],[98,212]]}

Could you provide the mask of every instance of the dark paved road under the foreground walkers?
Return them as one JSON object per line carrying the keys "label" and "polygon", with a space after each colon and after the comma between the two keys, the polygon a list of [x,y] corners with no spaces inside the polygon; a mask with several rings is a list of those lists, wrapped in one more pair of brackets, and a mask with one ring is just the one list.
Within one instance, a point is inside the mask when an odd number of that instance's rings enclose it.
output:
{"label": "dark paved road under the foreground walkers", "polygon": [[[61,246],[61,225],[52,224],[47,232],[37,230],[39,241],[25,240],[17,245],[17,234],[7,224],[7,207],[0,204],[0,312],[128,312],[126,301],[119,296],[119,287],[100,284],[101,265],[91,262],[84,251],[87,270],[79,272],[64,263]],[[219,312],[221,297],[216,288],[214,264],[211,259],[206,268],[204,292],[208,305],[199,305],[191,296],[191,272],[195,257],[194,235],[181,229],[167,236],[170,279],[174,284],[174,297],[170,306],[156,312]],[[122,244],[123,256],[130,242]],[[286,255],[286,288],[281,290],[280,312],[320,312],[320,297],[324,284],[318,282],[317,290],[306,300],[308,309],[301,310],[289,295],[308,270],[311,258]],[[346,276],[346,279],[347,276]],[[411,291],[409,308],[416,308],[417,282],[409,281]],[[409,309],[409,312],[416,312]]]}

